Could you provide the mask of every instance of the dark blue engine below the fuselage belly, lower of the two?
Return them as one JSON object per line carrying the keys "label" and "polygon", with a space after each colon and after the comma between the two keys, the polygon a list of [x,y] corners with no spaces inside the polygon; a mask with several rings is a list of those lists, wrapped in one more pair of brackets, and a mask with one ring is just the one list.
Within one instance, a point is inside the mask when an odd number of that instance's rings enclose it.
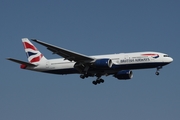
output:
{"label": "dark blue engine below the fuselage belly, lower of the two", "polygon": [[127,80],[133,77],[133,73],[131,70],[121,70],[114,74],[114,77],[116,77],[119,80]]}

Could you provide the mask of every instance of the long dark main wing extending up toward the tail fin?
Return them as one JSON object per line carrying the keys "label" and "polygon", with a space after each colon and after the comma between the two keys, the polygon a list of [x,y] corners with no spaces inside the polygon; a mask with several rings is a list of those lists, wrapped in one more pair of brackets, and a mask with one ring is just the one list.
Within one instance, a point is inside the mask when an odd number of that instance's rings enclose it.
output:
{"label": "long dark main wing extending up toward the tail fin", "polygon": [[58,54],[60,56],[62,56],[63,58],[69,60],[69,61],[75,61],[75,62],[90,62],[95,60],[92,57],[80,54],[80,53],[76,53],[64,48],[60,48],[45,42],[42,42],[40,40],[36,40],[36,39],[32,39],[32,41],[37,42],[45,47],[47,47],[48,50],[52,51],[54,54]]}

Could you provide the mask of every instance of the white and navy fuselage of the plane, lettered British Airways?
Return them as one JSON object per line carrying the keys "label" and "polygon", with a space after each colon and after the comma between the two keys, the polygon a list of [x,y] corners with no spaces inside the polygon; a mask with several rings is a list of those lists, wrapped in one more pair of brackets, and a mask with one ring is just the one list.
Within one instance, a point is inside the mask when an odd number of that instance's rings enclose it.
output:
{"label": "white and navy fuselage of the plane, lettered British Airways", "polygon": [[[113,62],[112,68],[105,69],[104,72],[116,72],[119,70],[157,68],[173,61],[167,54],[159,52],[134,52],[108,55],[90,56],[95,59],[109,58]],[[54,74],[72,74],[79,73],[75,68],[75,62],[69,60],[50,59],[41,63],[36,63],[36,67],[27,67],[26,69],[54,73]],[[97,72],[99,69],[90,69],[90,72]]]}

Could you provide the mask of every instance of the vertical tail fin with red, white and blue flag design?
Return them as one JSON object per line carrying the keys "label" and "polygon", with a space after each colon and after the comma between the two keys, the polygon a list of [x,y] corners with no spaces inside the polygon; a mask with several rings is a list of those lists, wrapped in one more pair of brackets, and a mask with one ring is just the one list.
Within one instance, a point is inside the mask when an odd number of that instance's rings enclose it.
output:
{"label": "vertical tail fin with red, white and blue flag design", "polygon": [[43,54],[29,41],[28,38],[22,39],[23,46],[30,63],[42,62],[47,59],[43,56]]}

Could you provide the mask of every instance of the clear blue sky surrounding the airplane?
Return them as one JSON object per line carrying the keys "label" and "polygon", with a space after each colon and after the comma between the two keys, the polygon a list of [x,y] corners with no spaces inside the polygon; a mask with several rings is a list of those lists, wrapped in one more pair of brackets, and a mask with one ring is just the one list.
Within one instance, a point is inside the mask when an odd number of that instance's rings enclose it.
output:
{"label": "clear blue sky surrounding the airplane", "polygon": [[[179,120],[179,0],[1,0],[0,120]],[[135,70],[134,78],[51,75],[19,69],[21,38],[37,38],[85,55],[158,51],[174,61]],[[47,57],[57,58],[43,46]]]}

